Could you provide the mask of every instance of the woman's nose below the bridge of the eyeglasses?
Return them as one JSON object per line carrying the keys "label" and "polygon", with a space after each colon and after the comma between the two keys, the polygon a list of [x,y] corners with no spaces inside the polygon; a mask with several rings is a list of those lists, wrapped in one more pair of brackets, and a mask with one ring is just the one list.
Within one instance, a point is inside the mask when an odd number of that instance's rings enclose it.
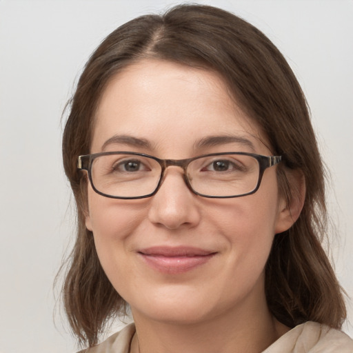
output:
{"label": "woman's nose below the bridge of the eyeglasses", "polygon": [[185,184],[181,168],[170,167],[157,194],[152,196],[148,217],[169,230],[192,228],[201,219],[198,198]]}

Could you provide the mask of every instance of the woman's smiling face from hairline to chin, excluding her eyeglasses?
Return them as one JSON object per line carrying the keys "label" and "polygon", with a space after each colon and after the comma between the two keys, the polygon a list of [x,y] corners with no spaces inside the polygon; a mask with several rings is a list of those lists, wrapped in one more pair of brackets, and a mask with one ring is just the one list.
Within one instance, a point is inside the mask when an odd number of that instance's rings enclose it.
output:
{"label": "woman's smiling face from hairline to chin, excluding her eyeglasses", "polygon": [[[210,143],[210,137],[217,139]],[[232,101],[218,74],[150,59],[108,84],[91,152],[161,159],[272,154],[261,141],[259,127]],[[233,199],[193,194],[183,170],[170,167],[147,199],[109,199],[88,185],[86,226],[135,319],[191,323],[265,305],[264,267],[274,234],[288,228],[284,213],[276,167],[265,170],[255,194]]]}

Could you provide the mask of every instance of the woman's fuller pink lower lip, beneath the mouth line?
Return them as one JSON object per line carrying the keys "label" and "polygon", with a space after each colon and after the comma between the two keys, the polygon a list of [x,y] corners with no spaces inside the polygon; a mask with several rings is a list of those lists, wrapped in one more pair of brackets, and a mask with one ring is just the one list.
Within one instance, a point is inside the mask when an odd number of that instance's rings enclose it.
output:
{"label": "woman's fuller pink lower lip, beneath the mouth line", "polygon": [[196,256],[162,256],[139,253],[151,268],[166,274],[181,274],[198,268],[212,259],[215,253]]}

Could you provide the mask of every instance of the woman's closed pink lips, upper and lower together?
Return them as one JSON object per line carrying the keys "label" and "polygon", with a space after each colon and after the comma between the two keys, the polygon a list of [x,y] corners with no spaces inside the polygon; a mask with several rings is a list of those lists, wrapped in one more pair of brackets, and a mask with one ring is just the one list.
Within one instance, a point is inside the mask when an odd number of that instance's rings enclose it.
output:
{"label": "woman's closed pink lips, upper and lower together", "polygon": [[216,252],[190,247],[157,246],[139,250],[138,254],[154,270],[180,274],[207,263]]}

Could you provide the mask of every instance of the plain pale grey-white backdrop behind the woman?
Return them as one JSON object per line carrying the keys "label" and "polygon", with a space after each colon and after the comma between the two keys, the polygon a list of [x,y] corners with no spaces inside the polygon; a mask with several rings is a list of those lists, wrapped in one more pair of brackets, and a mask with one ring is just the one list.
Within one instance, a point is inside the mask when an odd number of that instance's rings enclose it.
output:
{"label": "plain pale grey-white backdrop behind the woman", "polygon": [[[194,2],[248,19],[296,73],[331,172],[331,254],[352,296],[353,1]],[[0,353],[76,350],[60,307],[54,310],[52,288],[74,234],[61,166],[61,113],[85,61],[107,34],[176,3],[0,0]],[[348,309],[353,321],[352,304]],[[343,329],[352,336],[352,325]]]}

